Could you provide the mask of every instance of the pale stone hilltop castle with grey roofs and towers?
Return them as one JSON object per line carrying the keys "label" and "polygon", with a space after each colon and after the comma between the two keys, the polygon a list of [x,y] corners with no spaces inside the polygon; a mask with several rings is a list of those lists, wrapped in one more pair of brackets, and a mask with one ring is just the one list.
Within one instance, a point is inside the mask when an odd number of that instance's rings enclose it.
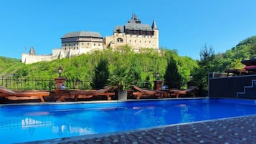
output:
{"label": "pale stone hilltop castle with grey roofs and towers", "polygon": [[39,55],[31,47],[29,53],[22,54],[22,62],[32,64],[41,61],[52,61],[75,57],[95,50],[113,49],[128,44],[138,52],[141,48],[158,49],[158,28],[153,24],[141,24],[136,14],[124,26],[116,26],[113,35],[103,38],[99,32],[70,32],[61,37],[62,47],[52,49],[52,54]]}

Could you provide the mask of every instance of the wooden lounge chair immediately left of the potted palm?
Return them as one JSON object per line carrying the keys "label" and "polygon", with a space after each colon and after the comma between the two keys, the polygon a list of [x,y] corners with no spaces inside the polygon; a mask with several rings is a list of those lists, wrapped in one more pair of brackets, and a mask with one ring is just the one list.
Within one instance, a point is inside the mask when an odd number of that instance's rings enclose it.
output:
{"label": "wooden lounge chair immediately left of the potted palm", "polygon": [[100,90],[79,90],[70,92],[70,97],[74,97],[74,101],[77,101],[78,98],[90,98],[94,96],[106,96],[108,100],[111,100],[112,95],[115,95],[115,92],[112,92],[113,87],[106,86]]}

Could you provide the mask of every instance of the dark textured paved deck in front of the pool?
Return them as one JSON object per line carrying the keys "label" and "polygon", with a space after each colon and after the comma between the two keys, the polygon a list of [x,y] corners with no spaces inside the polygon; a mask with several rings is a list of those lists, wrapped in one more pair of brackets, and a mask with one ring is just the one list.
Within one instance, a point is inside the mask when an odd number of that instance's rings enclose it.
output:
{"label": "dark textured paved deck in front of the pool", "polygon": [[73,138],[57,138],[32,143],[256,143],[256,115],[209,120],[183,125],[169,125],[159,128],[84,135]]}

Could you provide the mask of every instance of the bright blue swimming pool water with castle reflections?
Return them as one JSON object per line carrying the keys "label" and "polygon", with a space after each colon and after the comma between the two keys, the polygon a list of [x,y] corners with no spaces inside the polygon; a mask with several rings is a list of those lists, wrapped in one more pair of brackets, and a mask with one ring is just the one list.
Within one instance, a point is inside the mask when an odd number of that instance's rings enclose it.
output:
{"label": "bright blue swimming pool water with castle reflections", "polygon": [[152,128],[256,114],[255,100],[194,99],[1,105],[1,143]]}

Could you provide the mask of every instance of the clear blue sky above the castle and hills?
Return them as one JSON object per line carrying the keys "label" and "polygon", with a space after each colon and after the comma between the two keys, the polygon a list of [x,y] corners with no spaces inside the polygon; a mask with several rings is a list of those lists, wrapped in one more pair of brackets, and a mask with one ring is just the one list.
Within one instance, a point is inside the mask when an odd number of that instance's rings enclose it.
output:
{"label": "clear blue sky above the castle and hills", "polygon": [[60,48],[67,32],[113,34],[136,14],[159,29],[159,47],[199,59],[207,44],[226,52],[256,35],[255,0],[0,0],[0,56],[22,58]]}

